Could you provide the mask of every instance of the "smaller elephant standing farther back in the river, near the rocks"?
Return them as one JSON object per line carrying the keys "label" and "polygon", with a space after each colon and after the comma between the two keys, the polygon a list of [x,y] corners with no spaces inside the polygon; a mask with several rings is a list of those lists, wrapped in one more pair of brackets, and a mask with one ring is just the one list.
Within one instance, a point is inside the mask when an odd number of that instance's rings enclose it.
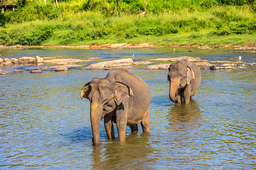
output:
{"label": "smaller elephant standing farther back in the river, near the rocks", "polygon": [[188,60],[180,60],[169,67],[168,81],[170,81],[169,97],[173,102],[189,103],[190,97],[196,94],[201,81],[201,71],[197,65]]}

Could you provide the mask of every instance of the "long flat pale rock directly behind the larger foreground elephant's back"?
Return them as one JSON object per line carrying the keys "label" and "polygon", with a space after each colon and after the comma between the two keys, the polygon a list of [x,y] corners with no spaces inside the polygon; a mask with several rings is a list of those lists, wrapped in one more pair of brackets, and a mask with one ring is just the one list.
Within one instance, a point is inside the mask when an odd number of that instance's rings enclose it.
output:
{"label": "long flat pale rock directly behind the larger foreground elephant's back", "polygon": [[113,60],[113,61],[104,61],[100,63],[92,63],[88,65],[85,69],[102,69],[104,67],[117,67],[123,65],[132,65],[133,60],[131,58]]}

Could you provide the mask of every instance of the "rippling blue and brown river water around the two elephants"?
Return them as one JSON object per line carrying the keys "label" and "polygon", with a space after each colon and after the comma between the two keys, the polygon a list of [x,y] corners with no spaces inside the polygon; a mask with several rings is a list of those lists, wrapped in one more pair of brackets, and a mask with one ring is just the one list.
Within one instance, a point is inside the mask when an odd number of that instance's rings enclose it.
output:
{"label": "rippling blue and brown river water around the two elephants", "polygon": [[[255,54],[227,49],[0,49],[1,58],[68,55],[100,57],[97,61],[191,56],[226,60]],[[235,61],[235,60],[231,60]],[[96,62],[96,61],[94,61]],[[159,63],[159,62],[155,62]],[[88,63],[80,63],[87,65]],[[51,66],[51,65],[49,65]],[[13,71],[42,67],[12,65]],[[128,69],[142,78],[151,92],[150,133],[126,129],[126,140],[107,139],[100,123],[100,144],[92,145],[90,102],[81,89],[110,70],[70,69],[0,75],[0,169],[256,169],[256,69],[201,70],[202,80],[189,104],[173,104],[168,96],[168,70]],[[112,142],[112,143],[109,143]]]}

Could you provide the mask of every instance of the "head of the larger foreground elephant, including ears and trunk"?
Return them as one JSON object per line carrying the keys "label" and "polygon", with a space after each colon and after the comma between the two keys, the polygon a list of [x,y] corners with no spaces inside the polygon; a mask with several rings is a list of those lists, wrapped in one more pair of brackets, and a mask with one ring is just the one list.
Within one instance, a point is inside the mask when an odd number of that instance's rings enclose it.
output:
{"label": "head of the larger foreground elephant, including ears and trunk", "polygon": [[93,145],[100,144],[100,121],[104,115],[112,112],[116,105],[130,96],[133,96],[132,89],[121,82],[111,83],[107,79],[95,78],[84,85],[81,99],[84,97],[90,100]]}

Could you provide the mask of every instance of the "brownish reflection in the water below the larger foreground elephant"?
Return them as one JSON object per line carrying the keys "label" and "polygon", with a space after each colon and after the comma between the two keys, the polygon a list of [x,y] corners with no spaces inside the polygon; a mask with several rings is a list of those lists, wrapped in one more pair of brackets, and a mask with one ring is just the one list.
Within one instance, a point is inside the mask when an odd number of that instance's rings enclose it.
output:
{"label": "brownish reflection in the water below the larger foreground elephant", "polygon": [[[154,152],[149,144],[149,133],[134,133],[126,136],[125,141],[93,146],[92,169],[147,169],[148,157]],[[133,167],[133,168],[132,168]]]}

